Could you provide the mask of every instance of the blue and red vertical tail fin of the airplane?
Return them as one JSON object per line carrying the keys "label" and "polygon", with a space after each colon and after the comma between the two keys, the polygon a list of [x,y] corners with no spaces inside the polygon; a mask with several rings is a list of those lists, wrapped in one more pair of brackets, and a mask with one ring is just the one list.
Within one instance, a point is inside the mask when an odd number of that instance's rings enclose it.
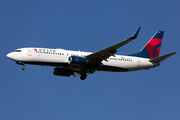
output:
{"label": "blue and red vertical tail fin of the airplane", "polygon": [[164,31],[157,31],[139,53],[132,54],[131,56],[144,57],[149,59],[159,57],[163,34]]}

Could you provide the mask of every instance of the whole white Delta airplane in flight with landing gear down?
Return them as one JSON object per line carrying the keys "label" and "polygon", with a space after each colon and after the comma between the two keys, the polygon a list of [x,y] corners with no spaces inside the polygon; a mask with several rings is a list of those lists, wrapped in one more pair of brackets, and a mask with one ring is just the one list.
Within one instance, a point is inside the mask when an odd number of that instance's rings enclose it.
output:
{"label": "whole white Delta airplane in flight with landing gear down", "polygon": [[114,44],[97,52],[82,52],[65,49],[50,49],[27,47],[16,49],[7,54],[7,57],[23,65],[25,64],[53,66],[54,75],[80,77],[85,80],[88,74],[95,71],[129,72],[148,70],[177,52],[172,52],[159,57],[164,31],[157,31],[148,43],[137,53],[130,55],[115,55],[117,49],[136,39],[139,27],[128,39]]}

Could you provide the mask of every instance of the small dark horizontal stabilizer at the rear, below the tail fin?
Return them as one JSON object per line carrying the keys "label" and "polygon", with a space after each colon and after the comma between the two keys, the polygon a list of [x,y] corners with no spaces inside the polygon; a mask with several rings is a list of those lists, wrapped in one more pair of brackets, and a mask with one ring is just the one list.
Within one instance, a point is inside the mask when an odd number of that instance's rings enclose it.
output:
{"label": "small dark horizontal stabilizer at the rear, below the tail fin", "polygon": [[163,60],[167,59],[168,57],[174,55],[175,53],[177,53],[177,52],[172,52],[172,53],[169,53],[169,54],[166,54],[166,55],[151,59],[150,62],[152,62],[152,63],[160,63]]}

